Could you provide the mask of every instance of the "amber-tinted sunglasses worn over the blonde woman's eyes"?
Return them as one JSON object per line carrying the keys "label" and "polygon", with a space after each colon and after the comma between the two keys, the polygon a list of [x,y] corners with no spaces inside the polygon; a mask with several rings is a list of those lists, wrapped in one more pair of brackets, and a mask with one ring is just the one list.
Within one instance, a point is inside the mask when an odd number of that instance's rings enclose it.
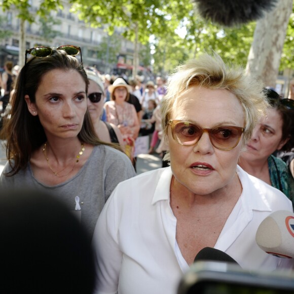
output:
{"label": "amber-tinted sunglasses worn over the blonde woman's eyes", "polygon": [[179,120],[169,120],[172,138],[184,146],[195,145],[204,132],[207,132],[211,144],[219,150],[231,150],[235,148],[244,132],[244,128],[235,126],[216,126],[212,129]]}

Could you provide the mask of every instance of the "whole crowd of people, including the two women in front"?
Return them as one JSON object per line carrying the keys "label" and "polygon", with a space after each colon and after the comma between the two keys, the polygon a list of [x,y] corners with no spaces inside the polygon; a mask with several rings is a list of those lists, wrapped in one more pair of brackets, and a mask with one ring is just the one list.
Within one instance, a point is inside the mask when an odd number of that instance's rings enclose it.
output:
{"label": "whole crowd of people, including the two women in front", "polygon": [[[294,270],[255,242],[272,212],[293,213],[294,100],[217,54],[146,83],[84,68],[77,46],[24,54],[18,75],[7,65],[1,82],[10,75],[15,86],[2,101],[0,189],[15,199],[24,189],[50,195],[72,212],[93,250],[90,292],[175,294],[204,247],[243,269]],[[145,135],[163,167],[136,175],[136,140]],[[41,214],[31,214],[36,223]],[[68,250],[74,243],[66,240]]]}

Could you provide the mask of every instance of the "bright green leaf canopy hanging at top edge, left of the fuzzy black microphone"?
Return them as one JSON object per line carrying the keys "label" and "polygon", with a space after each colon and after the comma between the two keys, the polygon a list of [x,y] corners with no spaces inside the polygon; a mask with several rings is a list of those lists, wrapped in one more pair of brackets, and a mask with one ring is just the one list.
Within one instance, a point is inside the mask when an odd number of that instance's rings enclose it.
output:
{"label": "bright green leaf canopy hanging at top edge, left of the fuzzy black microphone", "polygon": [[[72,11],[91,26],[102,27],[112,34],[116,27],[125,28],[123,36],[135,40],[135,24],[138,25],[138,40],[149,42],[149,36],[164,35],[178,25],[178,17],[187,12],[187,0],[70,0]],[[178,14],[175,14],[175,11]]]}

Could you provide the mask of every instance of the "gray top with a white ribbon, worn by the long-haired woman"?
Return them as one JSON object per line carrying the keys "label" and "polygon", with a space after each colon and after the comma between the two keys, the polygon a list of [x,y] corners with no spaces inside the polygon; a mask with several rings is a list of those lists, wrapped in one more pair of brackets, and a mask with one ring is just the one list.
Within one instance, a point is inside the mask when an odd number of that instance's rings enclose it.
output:
{"label": "gray top with a white ribbon, worn by the long-haired woman", "polygon": [[[7,163],[3,173],[10,170]],[[0,187],[39,189],[62,200],[81,219],[92,238],[98,216],[119,182],[135,176],[130,159],[109,146],[95,146],[84,166],[72,178],[56,186],[38,181],[30,164],[14,176],[0,176]],[[76,209],[75,197],[80,198],[81,210]],[[54,211],[52,211],[54,213]]]}

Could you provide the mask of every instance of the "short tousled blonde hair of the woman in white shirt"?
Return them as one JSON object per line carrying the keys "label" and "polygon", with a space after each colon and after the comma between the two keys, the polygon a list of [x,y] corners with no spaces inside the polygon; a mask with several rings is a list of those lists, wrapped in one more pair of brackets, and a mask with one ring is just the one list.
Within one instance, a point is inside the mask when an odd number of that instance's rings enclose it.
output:
{"label": "short tousled blonde hair of the woman in white shirt", "polygon": [[216,53],[204,53],[199,58],[178,66],[168,80],[167,94],[162,100],[162,129],[165,135],[173,105],[181,99],[183,93],[195,86],[224,89],[237,97],[245,114],[244,146],[250,139],[255,124],[269,106],[263,92],[263,83],[245,75],[241,67],[228,67]]}

